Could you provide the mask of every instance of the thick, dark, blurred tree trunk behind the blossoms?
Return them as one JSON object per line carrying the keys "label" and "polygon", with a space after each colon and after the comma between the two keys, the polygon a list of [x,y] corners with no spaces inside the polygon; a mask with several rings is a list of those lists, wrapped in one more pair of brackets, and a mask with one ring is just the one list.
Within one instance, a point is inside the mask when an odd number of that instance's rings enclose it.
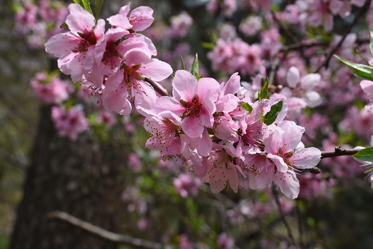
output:
{"label": "thick, dark, blurred tree trunk behind the blossoms", "polygon": [[18,209],[10,249],[116,248],[47,213],[62,210],[116,231],[126,155],[116,142],[102,144],[93,134],[76,141],[60,138],[43,107],[31,165]]}

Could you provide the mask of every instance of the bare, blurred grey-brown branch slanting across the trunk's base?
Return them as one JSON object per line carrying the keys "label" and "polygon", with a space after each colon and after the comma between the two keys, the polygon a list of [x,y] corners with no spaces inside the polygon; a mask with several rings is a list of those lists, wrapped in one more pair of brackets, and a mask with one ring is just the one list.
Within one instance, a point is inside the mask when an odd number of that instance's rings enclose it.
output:
{"label": "bare, blurred grey-brown branch slanting across the trunk's base", "polygon": [[79,227],[82,230],[85,230],[91,234],[97,235],[98,237],[110,240],[115,243],[128,244],[128,245],[139,246],[139,247],[149,248],[149,249],[163,248],[163,245],[160,243],[149,242],[146,240],[132,238],[132,237],[125,236],[122,234],[112,233],[101,227],[97,227],[86,221],[82,221],[81,219],[78,219],[62,211],[52,211],[52,212],[49,212],[47,216],[48,216],[48,219],[60,219],[75,227]]}

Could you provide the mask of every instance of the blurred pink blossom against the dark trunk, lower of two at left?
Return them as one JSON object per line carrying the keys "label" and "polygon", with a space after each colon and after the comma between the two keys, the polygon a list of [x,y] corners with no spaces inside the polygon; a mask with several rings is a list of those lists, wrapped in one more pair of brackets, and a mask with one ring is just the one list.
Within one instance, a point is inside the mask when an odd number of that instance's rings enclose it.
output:
{"label": "blurred pink blossom against the dark trunk, lower of two at left", "polygon": [[88,119],[84,111],[79,106],[70,107],[52,107],[52,120],[58,130],[59,136],[68,136],[72,140],[78,138],[78,134],[88,130]]}

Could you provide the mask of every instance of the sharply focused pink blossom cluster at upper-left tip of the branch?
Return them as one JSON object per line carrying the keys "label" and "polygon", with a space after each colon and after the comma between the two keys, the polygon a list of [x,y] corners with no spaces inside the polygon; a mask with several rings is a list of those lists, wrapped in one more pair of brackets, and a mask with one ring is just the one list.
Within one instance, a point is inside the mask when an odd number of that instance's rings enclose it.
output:
{"label": "sharply focused pink blossom cluster at upper-left tip of the branch", "polygon": [[105,21],[78,4],[68,6],[66,25],[69,31],[52,36],[46,51],[59,57],[60,70],[73,82],[98,95],[104,108],[123,115],[131,113],[129,100],[144,108],[153,107],[156,93],[144,78],[161,81],[172,73],[169,64],[151,58],[156,48],[147,37],[137,34],[149,27],[154,18],[150,7],[133,10],[129,4],[117,15],[107,18],[112,28],[105,31]]}

